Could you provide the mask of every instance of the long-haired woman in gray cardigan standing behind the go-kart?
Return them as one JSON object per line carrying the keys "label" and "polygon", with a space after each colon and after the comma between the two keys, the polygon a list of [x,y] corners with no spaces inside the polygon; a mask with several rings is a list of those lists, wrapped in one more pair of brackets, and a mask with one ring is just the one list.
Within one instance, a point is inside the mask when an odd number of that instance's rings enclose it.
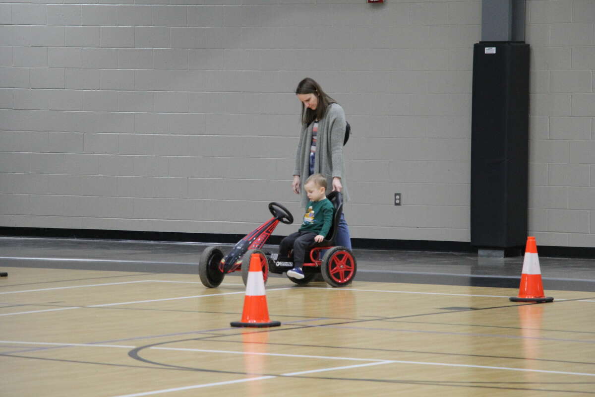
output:
{"label": "long-haired woman in gray cardigan standing behind the go-kart", "polygon": [[[343,164],[343,140],[345,139],[345,112],[341,105],[328,96],[313,79],[306,77],[297,85],[297,99],[302,102],[302,130],[296,150],[292,189],[300,193],[301,180],[312,174],[327,177],[333,191],[342,192],[347,201],[345,165]],[[308,204],[305,192],[302,207]],[[349,227],[345,214],[341,215],[337,228],[337,245],[351,249]]]}

